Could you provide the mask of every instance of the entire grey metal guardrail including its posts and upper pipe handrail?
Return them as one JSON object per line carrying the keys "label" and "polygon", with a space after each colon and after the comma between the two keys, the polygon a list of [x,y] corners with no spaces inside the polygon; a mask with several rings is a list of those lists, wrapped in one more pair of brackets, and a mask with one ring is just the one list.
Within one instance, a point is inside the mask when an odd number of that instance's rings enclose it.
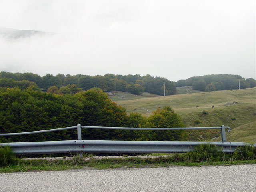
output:
{"label": "entire grey metal guardrail including its posts and upper pipe handrail", "polygon": [[[194,149],[200,144],[214,144],[222,147],[223,152],[234,152],[238,146],[250,145],[240,142],[226,142],[225,129],[230,132],[230,127],[189,127],[189,128],[127,128],[127,127],[100,127],[81,126],[40,130],[22,133],[1,133],[0,136],[13,136],[24,134],[37,134],[44,132],[60,131],[77,128],[78,140],[46,141],[46,142],[17,142],[0,143],[0,146],[10,146],[15,154],[47,154],[47,153],[183,153]],[[96,129],[126,129],[126,130],[191,130],[191,129],[220,129],[222,142],[185,142],[185,141],[102,141],[82,140],[81,128]]]}

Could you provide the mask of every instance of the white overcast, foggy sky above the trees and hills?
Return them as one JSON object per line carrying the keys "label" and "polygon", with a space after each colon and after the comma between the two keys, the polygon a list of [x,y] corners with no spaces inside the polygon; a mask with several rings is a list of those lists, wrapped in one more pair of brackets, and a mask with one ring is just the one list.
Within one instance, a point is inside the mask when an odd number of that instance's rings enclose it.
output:
{"label": "white overcast, foggy sky above the trees and hills", "polygon": [[255,0],[0,0],[0,71],[256,78]]}

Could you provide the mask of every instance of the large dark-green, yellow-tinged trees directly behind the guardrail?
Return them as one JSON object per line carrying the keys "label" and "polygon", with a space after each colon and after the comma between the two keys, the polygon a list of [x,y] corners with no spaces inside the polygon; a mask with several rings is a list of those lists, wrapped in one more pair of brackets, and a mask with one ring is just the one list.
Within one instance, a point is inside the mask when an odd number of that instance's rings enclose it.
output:
{"label": "large dark-green, yellow-tinged trees directly behind the guardrail", "polygon": [[[56,87],[57,88],[57,87]],[[52,94],[33,90],[0,89],[0,133],[28,132],[75,126],[115,127],[182,127],[180,117],[170,107],[156,110],[150,117],[127,114],[100,88],[76,94]],[[47,140],[76,140],[75,130],[43,134],[1,136],[0,142],[29,142]],[[184,133],[152,130],[82,129],[84,140],[184,140]]]}

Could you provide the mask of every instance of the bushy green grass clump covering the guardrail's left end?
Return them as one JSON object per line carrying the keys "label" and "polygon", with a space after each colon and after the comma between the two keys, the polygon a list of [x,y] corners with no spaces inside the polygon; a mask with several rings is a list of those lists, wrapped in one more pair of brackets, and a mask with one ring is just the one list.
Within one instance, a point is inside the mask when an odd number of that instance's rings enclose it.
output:
{"label": "bushy green grass clump covering the guardrail's left end", "polygon": [[8,166],[16,162],[15,154],[9,146],[0,146],[0,166]]}

